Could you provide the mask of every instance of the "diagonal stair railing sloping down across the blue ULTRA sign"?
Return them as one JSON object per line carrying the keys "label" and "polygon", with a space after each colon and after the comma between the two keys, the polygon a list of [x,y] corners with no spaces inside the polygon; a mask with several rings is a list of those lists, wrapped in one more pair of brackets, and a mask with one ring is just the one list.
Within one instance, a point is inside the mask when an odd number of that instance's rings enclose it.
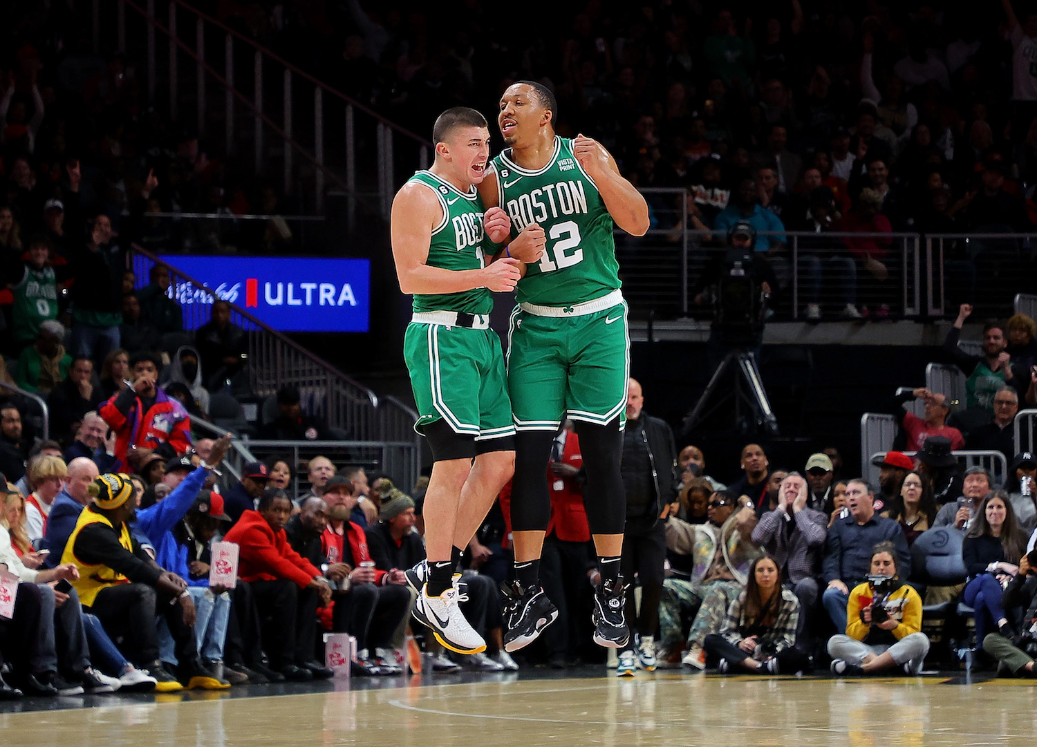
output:
{"label": "diagonal stair railing sloping down across the blue ULTRA sign", "polygon": [[[212,289],[170,266],[150,252],[133,246],[131,262],[138,277],[147,277],[153,264],[168,268],[171,283],[168,295],[175,298],[185,318],[185,328],[193,329],[207,322],[213,301],[221,298],[220,289]],[[241,327],[247,341],[247,358],[240,371],[228,372],[232,392],[259,400],[272,398],[277,390],[292,385],[300,392],[304,406],[359,441],[405,441],[420,451],[420,436],[414,431],[417,420],[413,410],[395,398],[380,401],[377,396],[326,361],[273,329],[244,309],[230,304],[230,323]],[[188,334],[171,334],[170,346],[189,344]],[[175,351],[175,347],[173,347]],[[208,374],[206,374],[208,376]],[[211,377],[212,378],[212,377]],[[417,461],[414,468],[417,469]]]}

